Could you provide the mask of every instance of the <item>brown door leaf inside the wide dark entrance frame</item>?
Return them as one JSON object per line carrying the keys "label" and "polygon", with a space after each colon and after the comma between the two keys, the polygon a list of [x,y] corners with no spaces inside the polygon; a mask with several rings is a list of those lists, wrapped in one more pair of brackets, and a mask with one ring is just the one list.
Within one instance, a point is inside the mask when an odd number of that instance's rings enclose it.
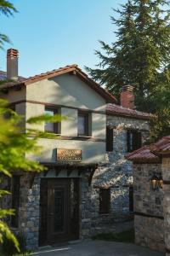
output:
{"label": "brown door leaf inside the wide dark entrance frame", "polygon": [[58,183],[48,180],[48,229],[49,243],[69,238],[70,183],[62,179]]}

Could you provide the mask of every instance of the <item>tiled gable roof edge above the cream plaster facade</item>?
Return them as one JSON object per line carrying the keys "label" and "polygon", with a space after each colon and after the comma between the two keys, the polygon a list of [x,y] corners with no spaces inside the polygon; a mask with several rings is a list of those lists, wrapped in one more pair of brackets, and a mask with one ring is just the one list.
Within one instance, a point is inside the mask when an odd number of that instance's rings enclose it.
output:
{"label": "tiled gable roof edge above the cream plaster facade", "polygon": [[[97,91],[100,96],[105,98],[106,102],[111,102],[111,103],[116,102],[115,96],[112,96],[111,93],[109,93],[105,89],[103,89],[93,79],[90,79],[88,77],[88,75],[86,73],[82,72],[82,70],[76,64],[69,65],[66,67],[59,67],[59,69],[54,69],[53,71],[41,73],[41,74],[35,75],[33,77],[29,77],[27,79],[22,78],[17,82],[3,84],[0,86],[0,90],[2,90],[2,89],[8,90],[10,88],[14,88],[17,86],[26,86],[29,84],[33,84],[37,81],[41,81],[42,79],[51,79],[51,78],[54,78],[56,76],[59,76],[59,75],[65,74],[65,73],[73,73],[73,74],[77,75],[80,79],[82,79],[85,83],[87,83],[93,90]],[[2,73],[2,75],[3,75],[3,73]]]}

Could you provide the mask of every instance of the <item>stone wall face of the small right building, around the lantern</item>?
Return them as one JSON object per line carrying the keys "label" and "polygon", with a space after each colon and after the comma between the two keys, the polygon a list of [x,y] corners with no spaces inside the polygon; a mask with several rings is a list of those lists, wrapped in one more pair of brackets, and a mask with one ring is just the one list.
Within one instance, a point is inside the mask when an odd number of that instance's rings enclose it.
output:
{"label": "stone wall face of the small right building, around the lantern", "polygon": [[150,178],[161,164],[134,164],[134,227],[137,244],[164,251],[163,191],[150,188]]}

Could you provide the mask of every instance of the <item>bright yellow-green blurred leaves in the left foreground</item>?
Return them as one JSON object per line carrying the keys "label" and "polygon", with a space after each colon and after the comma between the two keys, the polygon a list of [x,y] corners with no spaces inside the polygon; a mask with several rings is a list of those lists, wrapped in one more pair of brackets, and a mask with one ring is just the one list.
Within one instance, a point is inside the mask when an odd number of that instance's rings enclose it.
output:
{"label": "bright yellow-green blurred leaves in the left foreground", "polygon": [[[41,123],[44,121],[56,122],[60,121],[61,117],[47,117],[47,115],[31,118],[27,120],[28,124]],[[0,173],[12,177],[13,173],[20,170],[23,172],[41,172],[44,167],[37,162],[26,158],[26,154],[38,154],[41,148],[37,146],[39,137],[48,137],[45,132],[25,128],[21,124],[25,123],[24,117],[21,117],[13,110],[8,108],[8,102],[0,100]],[[35,137],[31,139],[29,136],[34,132]],[[51,135],[53,136],[53,134]],[[0,183],[3,183],[0,180]],[[0,189],[0,197],[7,195],[9,192]],[[8,228],[8,225],[3,221],[7,215],[14,214],[12,209],[0,209],[0,243],[4,243],[4,237],[13,241],[14,247],[20,252],[19,242],[14,234]],[[9,254],[8,254],[9,255]]]}

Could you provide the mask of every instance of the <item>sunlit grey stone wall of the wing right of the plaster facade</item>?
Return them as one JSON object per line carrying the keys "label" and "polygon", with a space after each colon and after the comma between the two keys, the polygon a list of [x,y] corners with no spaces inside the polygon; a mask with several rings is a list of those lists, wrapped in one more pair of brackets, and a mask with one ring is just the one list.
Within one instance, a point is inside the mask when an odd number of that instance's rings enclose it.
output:
{"label": "sunlit grey stone wall of the wing right of the plaster facade", "polygon": [[[95,201],[94,219],[99,224],[111,224],[132,217],[129,212],[129,186],[133,185],[132,163],[124,158],[127,154],[127,129],[136,129],[142,133],[142,143],[149,135],[149,123],[142,119],[130,119],[120,116],[107,116],[107,125],[113,127],[113,151],[107,152],[107,164],[99,166],[94,173],[92,200]],[[99,214],[99,189],[111,188],[111,212]]]}

